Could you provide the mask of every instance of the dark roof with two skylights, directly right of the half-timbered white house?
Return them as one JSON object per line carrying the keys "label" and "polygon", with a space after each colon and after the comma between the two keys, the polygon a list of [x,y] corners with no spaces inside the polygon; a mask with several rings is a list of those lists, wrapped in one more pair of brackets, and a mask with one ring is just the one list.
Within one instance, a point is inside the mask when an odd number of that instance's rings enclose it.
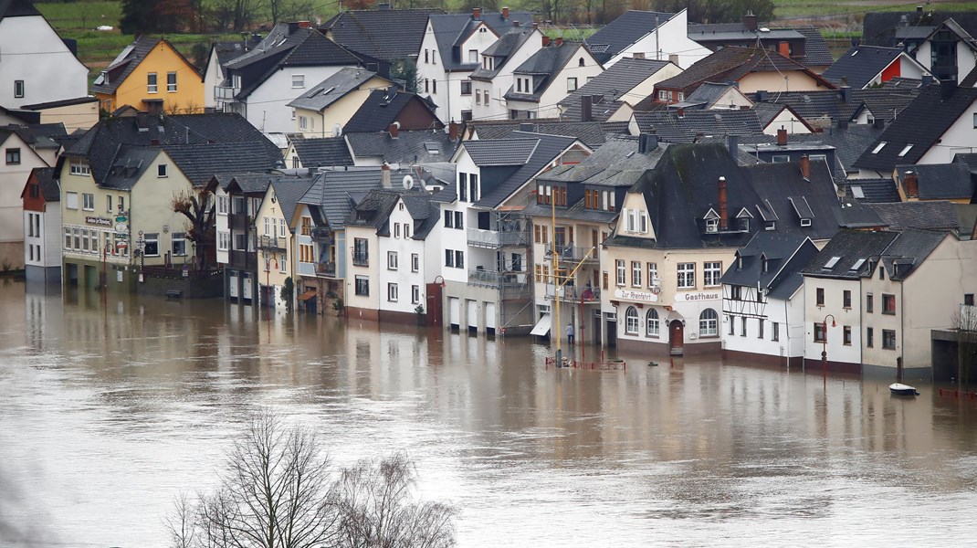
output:
{"label": "dark roof with two skylights, directly right of the half-timbered white house", "polygon": [[[821,253],[802,271],[813,277],[858,279],[871,275],[885,249],[899,236],[899,232],[853,231],[842,229],[831,237]],[[837,257],[831,267],[827,265]],[[862,261],[858,269],[852,269]]]}

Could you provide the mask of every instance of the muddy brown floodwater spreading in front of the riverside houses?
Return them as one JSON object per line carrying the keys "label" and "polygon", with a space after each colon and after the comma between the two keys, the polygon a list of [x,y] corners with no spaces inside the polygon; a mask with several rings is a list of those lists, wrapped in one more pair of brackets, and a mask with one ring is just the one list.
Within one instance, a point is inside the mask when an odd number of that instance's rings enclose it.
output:
{"label": "muddy brown floodwater spreading in front of the riverside houses", "polygon": [[977,534],[977,403],[932,387],[693,358],[554,370],[526,339],[32,289],[0,285],[0,525],[36,545],[164,545],[173,497],[213,485],[258,405],[340,464],[407,450],[466,547]]}

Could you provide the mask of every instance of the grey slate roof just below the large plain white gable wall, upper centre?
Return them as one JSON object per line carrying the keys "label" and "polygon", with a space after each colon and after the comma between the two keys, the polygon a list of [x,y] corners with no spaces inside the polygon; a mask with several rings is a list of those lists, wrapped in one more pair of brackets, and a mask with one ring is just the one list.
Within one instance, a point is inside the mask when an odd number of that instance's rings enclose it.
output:
{"label": "grey slate roof just below the large plain white gable wall, upper centre", "polygon": [[595,121],[605,121],[615,112],[621,102],[635,105],[644,97],[629,95],[638,84],[655,75],[658,70],[671,64],[667,61],[651,59],[621,59],[601,72],[594,79],[576,88],[572,94],[559,103],[566,110],[563,119],[578,121],[580,119],[580,98],[599,96],[602,99],[591,108]]}

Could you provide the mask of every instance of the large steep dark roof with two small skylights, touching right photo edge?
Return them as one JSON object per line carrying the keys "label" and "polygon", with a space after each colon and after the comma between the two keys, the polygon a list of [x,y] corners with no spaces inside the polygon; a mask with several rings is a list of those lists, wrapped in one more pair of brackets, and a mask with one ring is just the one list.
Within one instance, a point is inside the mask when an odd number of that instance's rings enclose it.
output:
{"label": "large steep dark roof with two small skylights, touching right photo edge", "polygon": [[[888,171],[897,164],[916,163],[975,100],[977,88],[956,88],[949,99],[943,99],[940,86],[928,86],[885,128],[855,167]],[[886,145],[874,152],[882,143]],[[913,148],[903,152],[910,145]]]}

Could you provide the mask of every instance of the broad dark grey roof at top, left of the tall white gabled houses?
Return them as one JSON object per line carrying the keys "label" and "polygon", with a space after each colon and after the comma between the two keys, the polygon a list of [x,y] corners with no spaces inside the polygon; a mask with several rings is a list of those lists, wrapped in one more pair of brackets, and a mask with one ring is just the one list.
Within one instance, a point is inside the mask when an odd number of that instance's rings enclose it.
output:
{"label": "broad dark grey roof at top, left of the tall white gabled houses", "polygon": [[349,10],[319,26],[337,44],[375,59],[395,62],[416,55],[428,16],[436,9]]}

